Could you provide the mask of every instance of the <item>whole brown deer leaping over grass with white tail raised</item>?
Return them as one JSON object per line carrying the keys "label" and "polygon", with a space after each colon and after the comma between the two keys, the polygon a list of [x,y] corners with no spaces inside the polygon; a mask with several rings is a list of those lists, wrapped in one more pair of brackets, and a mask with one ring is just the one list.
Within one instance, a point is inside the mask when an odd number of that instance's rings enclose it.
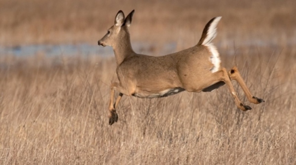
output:
{"label": "whole brown deer leaping over grass with white tail raised", "polygon": [[[217,35],[221,17],[211,19],[202,31],[199,42],[188,49],[163,56],[137,54],[131,46],[129,27],[135,10],[125,17],[122,10],[115,16],[114,25],[98,41],[98,45],[111,46],[116,59],[119,82],[111,82],[109,125],[118,121],[116,109],[123,95],[140,98],[160,98],[187,92],[212,92],[227,85],[238,109],[252,108],[242,103],[231,80],[237,81],[247,99],[259,104],[263,99],[251,94],[238,68],[229,71],[220,66],[221,60],[212,40]],[[119,95],[114,102],[115,90]]]}

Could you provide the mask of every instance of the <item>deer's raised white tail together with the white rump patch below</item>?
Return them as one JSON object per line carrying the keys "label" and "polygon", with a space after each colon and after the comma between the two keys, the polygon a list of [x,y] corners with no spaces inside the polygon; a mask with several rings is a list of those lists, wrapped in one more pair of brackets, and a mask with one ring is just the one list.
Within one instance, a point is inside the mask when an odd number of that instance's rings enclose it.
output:
{"label": "deer's raised white tail together with the white rump patch below", "polygon": [[214,65],[214,67],[211,69],[213,73],[219,70],[221,63],[217,48],[211,43],[217,35],[217,24],[220,20],[221,17],[215,17],[211,19],[207,23],[207,25],[205,25],[205,28],[202,31],[202,37],[200,38],[200,41],[197,43],[197,45],[206,46],[212,53],[210,60]]}

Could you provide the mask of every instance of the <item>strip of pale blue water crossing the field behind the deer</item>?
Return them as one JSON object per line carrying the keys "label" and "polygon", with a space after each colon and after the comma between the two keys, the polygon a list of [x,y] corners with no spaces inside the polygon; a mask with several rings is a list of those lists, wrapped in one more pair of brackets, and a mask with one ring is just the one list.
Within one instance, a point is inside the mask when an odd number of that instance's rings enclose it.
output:
{"label": "strip of pale blue water crossing the field behind the deer", "polygon": [[[234,41],[223,41],[222,43],[215,43],[219,47],[225,47],[225,45],[232,46]],[[295,45],[296,41],[289,41],[286,45]],[[235,42],[236,46],[254,46],[264,47],[270,46],[275,47],[277,44],[273,41],[243,41]],[[132,43],[132,47],[135,52],[140,54],[153,55],[153,49],[157,48],[157,53],[159,55],[165,55],[177,51],[177,43],[167,43],[162,46],[148,43],[135,42]],[[69,56],[88,56],[88,55],[98,55],[101,57],[113,56],[112,47],[100,47],[98,45],[91,44],[60,44],[60,45],[24,45],[15,47],[1,47],[0,45],[0,55],[14,55],[14,56],[29,56],[36,54],[44,54],[46,56],[59,56],[59,55],[69,55]],[[230,53],[231,54],[231,53]]]}

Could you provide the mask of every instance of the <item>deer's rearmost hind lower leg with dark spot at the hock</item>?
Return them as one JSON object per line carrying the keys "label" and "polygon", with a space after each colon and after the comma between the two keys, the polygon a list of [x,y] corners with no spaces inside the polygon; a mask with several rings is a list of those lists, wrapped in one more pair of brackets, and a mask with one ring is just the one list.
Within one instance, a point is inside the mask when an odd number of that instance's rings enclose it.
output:
{"label": "deer's rearmost hind lower leg with dark spot at the hock", "polygon": [[242,90],[244,91],[244,93],[246,94],[248,100],[254,104],[259,104],[261,102],[264,102],[263,99],[260,99],[258,97],[255,97],[251,94],[249,88],[247,87],[247,85],[244,83],[244,80],[242,79],[242,76],[239,74],[239,71],[237,69],[237,67],[233,67],[229,72],[228,75],[230,77],[231,80],[235,80],[239,83],[239,85],[242,87]]}

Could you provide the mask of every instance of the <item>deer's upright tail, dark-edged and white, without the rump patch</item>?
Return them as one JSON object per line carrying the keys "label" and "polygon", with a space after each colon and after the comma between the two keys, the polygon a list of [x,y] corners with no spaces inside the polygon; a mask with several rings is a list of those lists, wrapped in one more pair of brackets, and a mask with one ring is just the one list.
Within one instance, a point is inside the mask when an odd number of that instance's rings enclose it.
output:
{"label": "deer's upright tail, dark-edged and white, without the rump patch", "polygon": [[217,35],[217,24],[221,20],[221,17],[214,17],[212,18],[207,25],[205,25],[204,30],[202,31],[202,37],[200,38],[200,41],[197,43],[197,45],[209,45],[212,40]]}

